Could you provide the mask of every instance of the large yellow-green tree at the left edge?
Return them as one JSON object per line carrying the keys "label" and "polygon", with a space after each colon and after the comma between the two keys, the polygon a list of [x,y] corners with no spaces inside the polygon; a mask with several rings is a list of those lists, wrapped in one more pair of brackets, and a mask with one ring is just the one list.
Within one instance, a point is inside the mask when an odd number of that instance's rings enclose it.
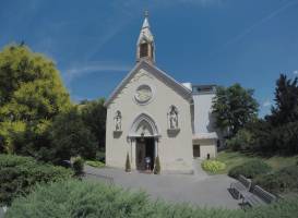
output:
{"label": "large yellow-green tree at the left edge", "polygon": [[[0,137],[3,150],[35,156],[35,152],[47,148],[47,129],[70,105],[69,94],[51,60],[24,45],[11,45],[0,51]],[[27,150],[23,147],[25,145],[32,149]]]}

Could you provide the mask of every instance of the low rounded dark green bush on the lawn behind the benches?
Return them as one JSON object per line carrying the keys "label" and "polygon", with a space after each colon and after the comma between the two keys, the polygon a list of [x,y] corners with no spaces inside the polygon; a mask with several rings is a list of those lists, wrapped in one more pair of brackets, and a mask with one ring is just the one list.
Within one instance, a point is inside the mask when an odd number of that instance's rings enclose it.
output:
{"label": "low rounded dark green bush on the lawn behind the benches", "polygon": [[247,178],[253,179],[259,174],[266,174],[271,171],[271,167],[262,160],[249,160],[240,166],[236,166],[228,171],[228,175],[238,178],[242,174]]}

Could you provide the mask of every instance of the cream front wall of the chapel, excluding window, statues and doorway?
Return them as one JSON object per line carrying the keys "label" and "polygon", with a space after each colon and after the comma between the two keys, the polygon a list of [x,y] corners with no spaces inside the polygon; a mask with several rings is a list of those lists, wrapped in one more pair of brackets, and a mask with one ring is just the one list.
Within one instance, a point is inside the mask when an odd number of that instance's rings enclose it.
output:
{"label": "cream front wall of the chapel, excluding window, statues and doorway", "polygon": [[[162,171],[190,172],[192,171],[192,131],[189,99],[184,99],[147,71],[140,70],[107,108],[106,164],[124,168],[129,153],[131,166],[135,168],[135,143],[128,141],[127,136],[134,119],[144,112],[155,121],[162,135],[157,146]],[[150,85],[154,93],[152,101],[144,106],[134,101],[135,89],[142,84]],[[180,132],[174,136],[167,132],[167,112],[171,105],[179,111]],[[119,135],[114,134],[114,117],[117,110],[122,114],[122,133]]]}

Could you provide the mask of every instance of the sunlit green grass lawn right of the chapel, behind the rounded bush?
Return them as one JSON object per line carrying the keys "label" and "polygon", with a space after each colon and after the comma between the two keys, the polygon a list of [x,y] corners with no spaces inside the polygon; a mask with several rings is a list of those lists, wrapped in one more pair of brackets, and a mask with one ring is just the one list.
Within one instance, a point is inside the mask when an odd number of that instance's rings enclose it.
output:
{"label": "sunlit green grass lawn right of the chapel, behind the rounded bush", "polygon": [[295,165],[298,160],[298,155],[291,157],[273,156],[270,158],[263,158],[259,156],[241,154],[238,152],[223,150],[217,154],[215,159],[226,164],[226,169],[218,173],[227,173],[229,169],[252,159],[262,159],[269,164],[274,171],[276,171],[281,168]]}

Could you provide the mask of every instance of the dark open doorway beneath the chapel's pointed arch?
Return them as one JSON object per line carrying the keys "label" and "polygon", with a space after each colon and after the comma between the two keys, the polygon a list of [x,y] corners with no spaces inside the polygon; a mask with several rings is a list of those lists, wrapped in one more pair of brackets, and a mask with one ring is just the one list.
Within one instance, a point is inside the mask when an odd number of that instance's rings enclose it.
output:
{"label": "dark open doorway beneath the chapel's pointed arch", "polygon": [[135,167],[139,171],[153,171],[155,161],[154,137],[138,137],[135,143]]}

